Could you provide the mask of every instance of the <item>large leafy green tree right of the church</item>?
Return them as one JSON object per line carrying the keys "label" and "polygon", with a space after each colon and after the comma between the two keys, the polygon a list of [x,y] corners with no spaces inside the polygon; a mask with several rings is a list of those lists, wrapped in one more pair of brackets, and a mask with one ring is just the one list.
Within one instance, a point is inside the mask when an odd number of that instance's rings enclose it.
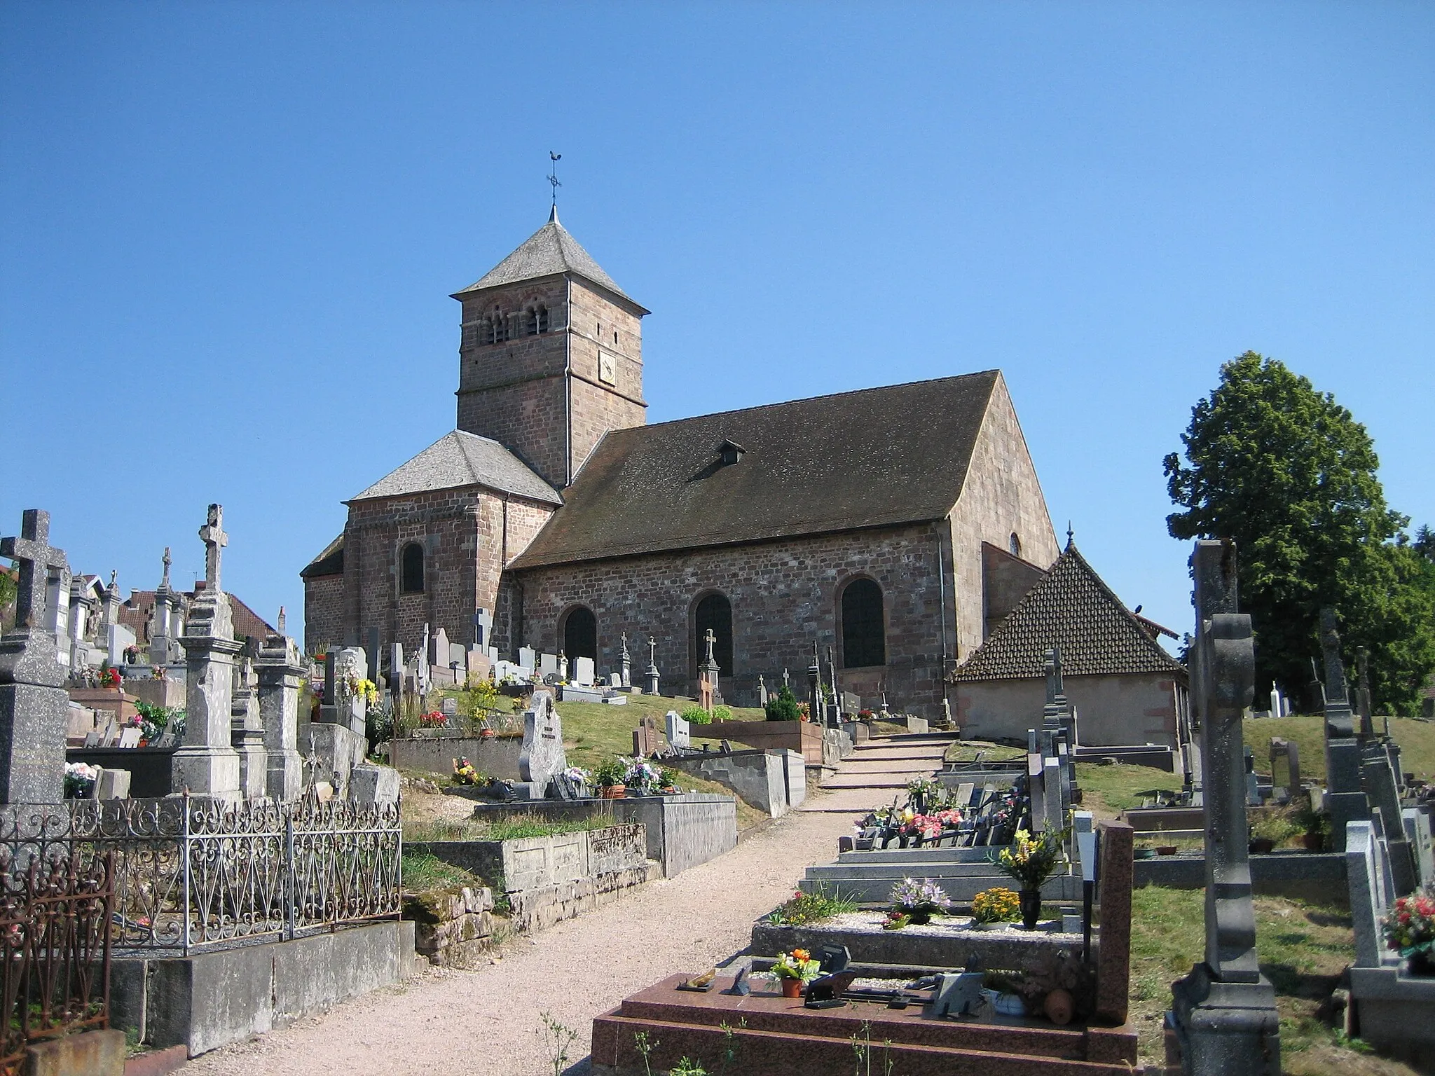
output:
{"label": "large leafy green tree right of the church", "polygon": [[[1365,426],[1330,393],[1254,351],[1221,367],[1164,469],[1172,538],[1233,538],[1240,603],[1256,631],[1257,689],[1304,690],[1319,615],[1342,618],[1349,661],[1370,651],[1376,707],[1412,713],[1435,669],[1435,572],[1389,509]],[[1399,539],[1399,541],[1396,541]],[[1353,679],[1353,669],[1352,669]],[[1319,700],[1307,700],[1312,706]]]}

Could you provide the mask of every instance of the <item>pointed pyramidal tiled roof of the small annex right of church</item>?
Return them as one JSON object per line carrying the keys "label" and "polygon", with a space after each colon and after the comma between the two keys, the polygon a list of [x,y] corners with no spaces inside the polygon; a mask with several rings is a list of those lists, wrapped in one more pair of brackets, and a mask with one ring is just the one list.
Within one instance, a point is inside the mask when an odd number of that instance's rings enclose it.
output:
{"label": "pointed pyramidal tiled roof of the small annex right of church", "polygon": [[951,680],[1043,677],[1052,646],[1060,647],[1063,676],[1185,674],[1185,667],[1157,644],[1155,633],[1102,582],[1076,544],[1068,542],[1056,564]]}

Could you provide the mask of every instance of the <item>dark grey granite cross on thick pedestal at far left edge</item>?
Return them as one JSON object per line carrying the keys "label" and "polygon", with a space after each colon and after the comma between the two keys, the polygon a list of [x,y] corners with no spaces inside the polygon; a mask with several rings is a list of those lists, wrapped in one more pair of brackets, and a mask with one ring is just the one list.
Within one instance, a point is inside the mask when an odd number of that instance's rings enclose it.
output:
{"label": "dark grey granite cross on thick pedestal at far left edge", "polygon": [[0,802],[59,803],[69,694],[44,601],[50,574],[66,564],[65,551],[50,545],[50,514],[27,508],[20,537],[0,539],[0,557],[20,568],[14,627],[0,638]]}

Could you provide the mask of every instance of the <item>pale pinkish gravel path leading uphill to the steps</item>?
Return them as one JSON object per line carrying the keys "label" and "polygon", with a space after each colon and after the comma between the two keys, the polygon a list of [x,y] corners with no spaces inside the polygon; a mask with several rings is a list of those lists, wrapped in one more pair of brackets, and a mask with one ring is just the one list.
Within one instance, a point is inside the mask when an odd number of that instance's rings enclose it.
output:
{"label": "pale pinkish gravel path leading uphill to the steps", "polygon": [[197,1057],[185,1072],[551,1073],[541,1013],[578,1032],[568,1057],[584,1057],[594,1016],[666,976],[703,971],[746,948],[752,921],[786,900],[809,864],[831,862],[851,825],[845,813],[788,815],[728,855],[509,943],[478,971],[430,971]]}

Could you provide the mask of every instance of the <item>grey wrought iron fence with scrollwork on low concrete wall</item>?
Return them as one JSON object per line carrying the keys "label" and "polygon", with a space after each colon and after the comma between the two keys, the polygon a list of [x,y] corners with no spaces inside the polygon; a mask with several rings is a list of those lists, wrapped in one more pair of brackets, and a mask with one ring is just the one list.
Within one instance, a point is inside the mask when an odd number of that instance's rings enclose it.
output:
{"label": "grey wrought iron fence with scrollwork on low concrete wall", "polygon": [[0,808],[0,865],[109,855],[116,951],[188,954],[399,917],[397,805],[165,799]]}

